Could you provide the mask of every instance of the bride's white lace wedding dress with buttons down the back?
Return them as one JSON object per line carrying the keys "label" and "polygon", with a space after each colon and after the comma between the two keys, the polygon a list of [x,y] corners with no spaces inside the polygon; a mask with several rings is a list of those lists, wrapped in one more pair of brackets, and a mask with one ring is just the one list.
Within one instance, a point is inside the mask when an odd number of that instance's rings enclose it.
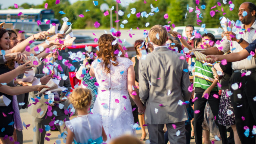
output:
{"label": "bride's white lace wedding dress with buttons down the back", "polygon": [[92,112],[102,115],[108,141],[123,134],[135,134],[131,126],[134,120],[127,91],[127,70],[132,61],[117,57],[117,62],[117,66],[110,64],[110,73],[105,71],[100,59],[94,60],[91,65],[99,84]]}

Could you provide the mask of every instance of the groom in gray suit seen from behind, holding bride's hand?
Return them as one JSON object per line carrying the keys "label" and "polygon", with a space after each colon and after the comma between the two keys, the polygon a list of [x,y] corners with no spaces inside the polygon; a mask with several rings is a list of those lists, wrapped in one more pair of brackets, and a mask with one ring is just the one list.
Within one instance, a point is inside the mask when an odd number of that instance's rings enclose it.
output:
{"label": "groom in gray suit seen from behind, holding bride's hand", "polygon": [[165,46],[168,36],[163,26],[153,26],[149,39],[154,51],[139,61],[139,93],[146,105],[145,122],[148,124],[149,140],[151,144],[164,144],[163,128],[166,124],[169,141],[185,144],[188,114],[182,102],[191,97],[188,72],[184,70],[188,64],[181,58],[183,54]]}

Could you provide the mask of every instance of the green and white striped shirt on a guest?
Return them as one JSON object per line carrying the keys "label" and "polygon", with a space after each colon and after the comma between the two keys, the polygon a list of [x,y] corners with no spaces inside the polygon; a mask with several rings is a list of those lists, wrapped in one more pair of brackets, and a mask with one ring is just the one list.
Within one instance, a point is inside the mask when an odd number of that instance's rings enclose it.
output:
{"label": "green and white striped shirt on a guest", "polygon": [[[214,80],[212,72],[212,64],[206,64],[204,61],[195,60],[195,81],[194,87],[200,87],[206,90],[212,85]],[[218,91],[217,85],[212,89],[212,91]]]}

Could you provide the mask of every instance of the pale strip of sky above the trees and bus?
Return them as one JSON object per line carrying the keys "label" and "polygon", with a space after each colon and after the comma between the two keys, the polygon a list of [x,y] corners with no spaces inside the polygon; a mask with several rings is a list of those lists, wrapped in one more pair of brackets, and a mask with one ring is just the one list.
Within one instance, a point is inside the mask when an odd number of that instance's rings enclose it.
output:
{"label": "pale strip of sky above the trees and bus", "polygon": [[[21,4],[24,4],[24,3],[28,3],[28,4],[34,4],[34,5],[37,5],[37,4],[42,4],[44,0],[8,0],[8,3],[6,3],[6,1],[4,0],[0,0],[0,4],[2,5],[1,8],[4,9],[4,8],[8,8],[9,6],[13,6],[14,4],[18,4],[18,5],[21,5]],[[71,4],[75,3],[76,1],[78,0],[69,0],[69,2]],[[124,2],[132,2],[134,0],[121,0],[121,4],[124,3]],[[61,0],[60,0],[61,2]]]}

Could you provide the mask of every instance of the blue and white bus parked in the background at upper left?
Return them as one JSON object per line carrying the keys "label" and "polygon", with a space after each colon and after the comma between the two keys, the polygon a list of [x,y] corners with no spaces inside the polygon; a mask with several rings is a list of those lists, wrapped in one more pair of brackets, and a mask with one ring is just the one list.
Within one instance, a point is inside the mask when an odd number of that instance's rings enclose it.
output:
{"label": "blue and white bus parked in the background at upper left", "polygon": [[[20,16],[18,14],[22,12]],[[51,9],[6,9],[0,10],[0,23],[16,23],[16,22],[36,22],[41,20],[46,22],[50,20],[50,23],[60,23],[58,19],[54,18],[54,11]]]}

